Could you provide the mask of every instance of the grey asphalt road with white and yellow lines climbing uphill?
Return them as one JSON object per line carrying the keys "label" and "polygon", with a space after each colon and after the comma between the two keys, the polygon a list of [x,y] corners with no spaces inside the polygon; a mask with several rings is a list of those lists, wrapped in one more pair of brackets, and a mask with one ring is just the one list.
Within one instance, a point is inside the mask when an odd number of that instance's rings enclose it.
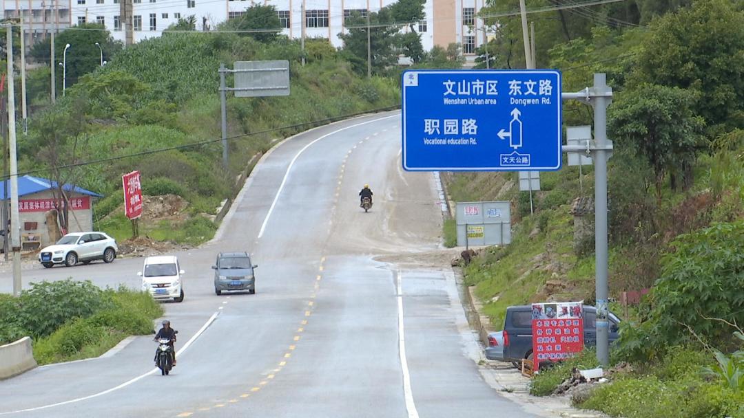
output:
{"label": "grey asphalt road with white and yellow lines climbing uphill", "polygon": [[[135,337],[0,382],[0,415],[532,417],[478,373],[446,264],[395,261],[430,255],[440,231],[432,174],[400,168],[399,113],[300,134],[263,157],[213,242],[177,253],[185,301],[166,304],[181,350],[170,376],[155,373],[151,338]],[[214,294],[223,250],[254,255],[255,295]],[[141,263],[25,270],[24,281],[139,287]],[[0,275],[1,291],[11,283]]]}

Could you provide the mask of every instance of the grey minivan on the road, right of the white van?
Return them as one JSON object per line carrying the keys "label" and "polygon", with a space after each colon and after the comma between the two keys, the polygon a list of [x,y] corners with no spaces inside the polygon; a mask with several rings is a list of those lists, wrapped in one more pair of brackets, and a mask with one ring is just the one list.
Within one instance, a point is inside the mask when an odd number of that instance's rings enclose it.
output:
{"label": "grey minivan on the road, right of the white van", "polygon": [[256,293],[256,276],[248,252],[220,252],[214,270],[214,293],[222,295],[225,291],[248,291]]}

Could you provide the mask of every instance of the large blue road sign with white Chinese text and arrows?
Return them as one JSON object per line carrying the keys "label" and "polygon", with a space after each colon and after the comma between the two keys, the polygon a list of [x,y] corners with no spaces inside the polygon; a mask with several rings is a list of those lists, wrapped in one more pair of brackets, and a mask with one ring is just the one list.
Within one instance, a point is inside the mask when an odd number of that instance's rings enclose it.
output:
{"label": "large blue road sign with white Chinese text and arrows", "polygon": [[555,70],[403,73],[403,168],[550,171],[561,166]]}

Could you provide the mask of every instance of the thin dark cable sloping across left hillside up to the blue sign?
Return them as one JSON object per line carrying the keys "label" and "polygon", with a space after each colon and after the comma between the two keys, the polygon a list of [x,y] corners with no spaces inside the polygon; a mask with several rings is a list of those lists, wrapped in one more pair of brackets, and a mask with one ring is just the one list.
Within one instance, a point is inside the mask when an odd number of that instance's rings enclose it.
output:
{"label": "thin dark cable sloping across left hillside up to the blue sign", "polygon": [[[239,134],[239,135],[234,135],[232,137],[228,137],[227,140],[240,140],[240,139],[243,139],[243,138],[246,138],[246,137],[252,137],[254,135],[269,134],[271,132],[283,131],[285,129],[302,128],[302,127],[313,126],[313,125],[318,125],[318,126],[319,125],[325,125],[327,123],[333,123],[333,122],[338,122],[339,120],[348,119],[350,117],[357,117],[357,116],[362,116],[362,115],[365,115],[365,114],[377,113],[377,112],[382,112],[382,111],[392,111],[392,110],[397,109],[397,108],[400,108],[400,105],[392,105],[392,106],[388,106],[388,107],[385,107],[385,108],[376,108],[376,109],[371,109],[369,111],[362,111],[362,112],[357,112],[357,113],[353,113],[353,114],[345,114],[345,115],[341,115],[341,116],[337,116],[337,117],[328,117],[326,119],[321,119],[321,120],[311,120],[309,122],[296,123],[295,125],[286,125],[286,126],[280,126],[278,128],[264,129],[263,131],[248,132],[247,134]],[[48,172],[50,170],[73,169],[75,167],[91,166],[91,165],[94,165],[94,164],[111,163],[113,161],[125,160],[127,158],[143,157],[145,155],[159,154],[161,152],[178,151],[178,150],[183,150],[183,149],[187,149],[187,148],[194,148],[194,147],[198,147],[198,146],[205,146],[205,145],[208,145],[208,144],[211,144],[211,143],[219,143],[221,141],[222,141],[222,138],[211,139],[211,140],[202,140],[202,141],[198,141],[196,143],[182,144],[182,145],[179,145],[179,146],[170,146],[170,147],[167,147],[167,148],[156,148],[156,149],[151,149],[151,150],[147,150],[147,151],[135,152],[133,154],[120,155],[118,157],[102,158],[100,160],[84,161],[82,163],[65,164],[65,165],[62,165],[62,166],[54,166],[54,167],[49,167],[49,168],[46,168],[46,169],[29,170],[28,172],[19,172],[18,175],[19,176],[23,176],[23,175],[28,175],[28,174],[36,174],[36,173],[40,173],[40,172]],[[0,177],[1,180],[7,180],[8,178],[9,177],[5,177],[5,176]]]}

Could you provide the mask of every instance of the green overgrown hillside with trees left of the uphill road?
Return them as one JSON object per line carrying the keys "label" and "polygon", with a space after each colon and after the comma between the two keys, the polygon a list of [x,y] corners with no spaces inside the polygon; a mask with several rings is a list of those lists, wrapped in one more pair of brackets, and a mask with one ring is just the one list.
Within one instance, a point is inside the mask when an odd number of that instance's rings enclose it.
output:
{"label": "green overgrown hillside with trees left of the uphill road", "polygon": [[[383,22],[420,20],[423,2],[401,0],[371,15]],[[351,19],[365,21],[360,16]],[[266,31],[274,27],[275,32]],[[51,106],[48,67],[29,71],[35,111],[28,140],[19,143],[20,171],[104,195],[94,206],[95,226],[121,241],[131,237],[121,209],[121,175],[139,170],[146,195],[173,194],[188,203],[179,221],[143,219],[141,234],[157,241],[202,243],[214,235],[216,227],[208,223],[217,208],[242,186],[236,184],[237,176],[248,169],[251,157],[272,146],[272,140],[400,105],[401,53],[420,67],[461,65],[456,45],[424,51],[416,25],[405,34],[398,28],[373,28],[371,78],[365,27],[351,25],[344,38],[347,45],[340,50],[327,40],[308,39],[303,53],[299,40],[280,35],[275,8],[262,4],[247,7],[243,16],[219,25],[214,33],[196,32],[195,20],[186,16],[173,27],[178,33],[164,33],[126,49],[100,25],[62,31],[57,53],[69,43],[68,53],[75,54],[68,65],[68,88],[62,97],[57,71],[57,104]],[[262,31],[219,33],[251,29]],[[95,42],[103,45],[107,61],[103,67]],[[31,57],[48,64],[48,51],[48,41],[39,42]],[[231,139],[225,169],[219,140],[219,65],[232,68],[235,61],[271,59],[289,61],[292,94],[259,98],[228,94]]]}

